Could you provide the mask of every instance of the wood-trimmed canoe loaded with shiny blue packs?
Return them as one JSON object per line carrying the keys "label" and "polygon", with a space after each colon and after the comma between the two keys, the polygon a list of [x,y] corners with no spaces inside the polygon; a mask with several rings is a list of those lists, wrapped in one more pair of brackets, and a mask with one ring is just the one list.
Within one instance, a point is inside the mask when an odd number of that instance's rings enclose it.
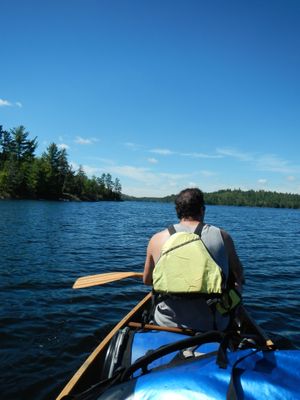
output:
{"label": "wood-trimmed canoe loaded with shiny blue packs", "polygon": [[151,293],[97,346],[57,400],[300,398],[300,351],[278,349],[244,306],[226,332],[206,333],[145,323],[150,309]]}

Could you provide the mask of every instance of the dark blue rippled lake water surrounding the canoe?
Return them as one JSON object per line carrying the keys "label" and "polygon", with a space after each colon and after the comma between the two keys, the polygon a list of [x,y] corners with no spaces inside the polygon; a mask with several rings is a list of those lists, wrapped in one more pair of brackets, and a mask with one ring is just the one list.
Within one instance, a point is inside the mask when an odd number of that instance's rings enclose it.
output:
{"label": "dark blue rippled lake water surrounding the canoe", "polygon": [[[73,290],[79,276],[142,271],[172,204],[0,201],[1,399],[54,399],[146,293],[139,280]],[[272,337],[300,348],[300,210],[208,206],[233,237],[244,303]]]}

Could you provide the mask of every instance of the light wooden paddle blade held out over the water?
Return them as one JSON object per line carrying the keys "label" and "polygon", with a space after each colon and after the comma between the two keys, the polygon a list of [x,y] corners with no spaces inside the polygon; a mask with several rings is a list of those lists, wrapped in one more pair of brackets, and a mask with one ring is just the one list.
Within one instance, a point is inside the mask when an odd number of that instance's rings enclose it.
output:
{"label": "light wooden paddle blade held out over the water", "polygon": [[104,285],[105,283],[115,282],[125,278],[142,277],[142,272],[107,272],[105,274],[82,276],[75,281],[73,289]]}

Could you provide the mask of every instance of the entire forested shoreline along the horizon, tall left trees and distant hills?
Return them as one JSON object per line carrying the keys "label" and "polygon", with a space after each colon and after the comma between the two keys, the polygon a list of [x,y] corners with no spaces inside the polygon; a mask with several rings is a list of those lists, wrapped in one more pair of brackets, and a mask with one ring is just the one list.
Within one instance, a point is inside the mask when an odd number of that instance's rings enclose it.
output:
{"label": "entire forested shoreline along the horizon, tall left trees and distant hills", "polygon": [[[0,126],[0,199],[174,202],[174,194],[161,198],[122,194],[120,180],[111,174],[88,178],[82,167],[72,169],[66,149],[51,143],[37,157],[37,146],[37,138],[29,139],[24,126],[9,131]],[[265,190],[224,189],[204,193],[204,198],[208,205],[300,208],[299,194]]]}

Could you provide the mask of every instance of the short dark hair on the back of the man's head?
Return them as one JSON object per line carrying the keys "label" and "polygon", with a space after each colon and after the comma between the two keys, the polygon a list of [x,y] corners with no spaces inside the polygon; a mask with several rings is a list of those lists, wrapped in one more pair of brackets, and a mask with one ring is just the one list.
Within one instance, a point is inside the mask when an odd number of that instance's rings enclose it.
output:
{"label": "short dark hair on the back of the man's head", "polygon": [[198,188],[184,189],[175,199],[177,217],[197,218],[201,214],[201,208],[205,209],[203,192]]}

